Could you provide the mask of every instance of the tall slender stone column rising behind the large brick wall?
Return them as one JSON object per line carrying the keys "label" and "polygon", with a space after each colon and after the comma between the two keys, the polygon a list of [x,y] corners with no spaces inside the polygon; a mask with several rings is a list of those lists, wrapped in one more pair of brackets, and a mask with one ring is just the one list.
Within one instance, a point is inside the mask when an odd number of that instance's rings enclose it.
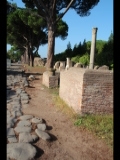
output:
{"label": "tall slender stone column rising behind the large brick wall", "polygon": [[90,65],[89,69],[94,68],[94,55],[95,55],[95,48],[96,48],[96,36],[97,36],[98,28],[92,29],[92,42],[91,42],[91,52],[90,52]]}

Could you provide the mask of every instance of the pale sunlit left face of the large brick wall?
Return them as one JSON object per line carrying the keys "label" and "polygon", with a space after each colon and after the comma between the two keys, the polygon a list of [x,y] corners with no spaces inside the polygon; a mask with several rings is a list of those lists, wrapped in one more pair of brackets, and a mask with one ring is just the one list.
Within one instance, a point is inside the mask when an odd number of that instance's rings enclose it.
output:
{"label": "pale sunlit left face of the large brick wall", "polygon": [[76,112],[81,111],[84,72],[74,67],[60,72],[59,96]]}

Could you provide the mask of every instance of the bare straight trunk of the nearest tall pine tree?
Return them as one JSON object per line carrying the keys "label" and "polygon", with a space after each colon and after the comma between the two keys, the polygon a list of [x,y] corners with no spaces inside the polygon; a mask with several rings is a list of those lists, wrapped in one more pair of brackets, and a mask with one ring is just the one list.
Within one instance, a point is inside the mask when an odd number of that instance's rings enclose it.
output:
{"label": "bare straight trunk of the nearest tall pine tree", "polygon": [[47,69],[53,68],[53,57],[55,47],[55,24],[48,22],[48,53],[47,53]]}

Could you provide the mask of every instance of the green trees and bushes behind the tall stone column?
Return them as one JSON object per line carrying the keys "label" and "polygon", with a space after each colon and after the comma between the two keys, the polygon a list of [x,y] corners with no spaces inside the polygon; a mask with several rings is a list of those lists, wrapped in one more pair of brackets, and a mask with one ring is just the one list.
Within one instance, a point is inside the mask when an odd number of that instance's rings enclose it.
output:
{"label": "green trees and bushes behind the tall stone column", "polygon": [[[89,65],[90,60],[90,49],[91,49],[91,42],[86,42],[85,40],[83,43],[79,43],[78,45],[75,44],[73,49],[71,48],[70,42],[67,45],[67,49],[59,54],[55,55],[55,60],[66,60],[67,57],[71,58],[72,62],[81,63],[83,65]],[[110,69],[113,69],[113,33],[110,34],[108,41],[97,40],[96,41],[96,52],[95,52],[95,65],[107,65]]]}

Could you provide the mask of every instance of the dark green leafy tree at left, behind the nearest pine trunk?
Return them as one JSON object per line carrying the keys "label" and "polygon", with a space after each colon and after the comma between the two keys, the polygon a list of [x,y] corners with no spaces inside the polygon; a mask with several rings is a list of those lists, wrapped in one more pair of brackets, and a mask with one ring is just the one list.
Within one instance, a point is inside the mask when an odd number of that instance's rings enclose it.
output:
{"label": "dark green leafy tree at left, behind the nearest pine trunk", "polygon": [[[46,21],[43,18],[35,17],[27,10],[17,9],[7,17],[7,42],[11,45],[24,47],[28,52],[32,66],[34,54],[38,51],[39,46],[47,43],[46,26]],[[67,35],[68,25],[60,20],[56,25],[55,37],[59,36],[65,39]],[[33,50],[35,50],[34,53]]]}

